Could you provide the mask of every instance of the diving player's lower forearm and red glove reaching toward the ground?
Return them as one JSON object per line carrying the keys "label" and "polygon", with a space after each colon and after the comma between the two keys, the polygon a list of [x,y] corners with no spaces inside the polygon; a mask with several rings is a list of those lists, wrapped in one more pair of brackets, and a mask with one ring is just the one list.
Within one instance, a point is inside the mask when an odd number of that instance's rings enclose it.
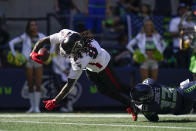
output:
{"label": "diving player's lower forearm and red glove reaching toward the ground", "polygon": [[43,101],[43,103],[46,104],[45,108],[47,110],[52,110],[55,107],[57,107],[57,105],[61,102],[61,100],[63,100],[63,98],[66,97],[67,94],[70,92],[75,81],[76,81],[75,79],[68,79],[67,83],[64,85],[64,87],[61,89],[59,94],[54,99],[48,100],[48,101]]}

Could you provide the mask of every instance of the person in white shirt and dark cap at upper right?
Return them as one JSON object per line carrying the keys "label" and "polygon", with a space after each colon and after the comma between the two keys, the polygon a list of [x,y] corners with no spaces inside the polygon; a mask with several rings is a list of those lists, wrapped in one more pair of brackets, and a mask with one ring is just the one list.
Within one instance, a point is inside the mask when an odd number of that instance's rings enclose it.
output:
{"label": "person in white shirt and dark cap at upper right", "polygon": [[[187,13],[187,6],[184,3],[179,4],[178,17],[171,19],[169,32],[173,38],[173,53],[177,60],[177,67],[188,68],[190,64],[191,52],[189,49],[180,50],[179,29],[183,27],[193,27],[195,25],[190,19],[183,20],[183,16]],[[188,18],[188,17],[187,17]],[[183,59],[182,59],[183,58]]]}

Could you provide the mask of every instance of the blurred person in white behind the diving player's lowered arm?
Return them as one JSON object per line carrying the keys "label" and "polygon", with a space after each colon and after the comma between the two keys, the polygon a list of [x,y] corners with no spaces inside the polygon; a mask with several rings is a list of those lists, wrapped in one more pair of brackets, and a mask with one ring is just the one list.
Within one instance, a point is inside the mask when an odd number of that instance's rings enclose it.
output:
{"label": "blurred person in white behind the diving player's lowered arm", "polygon": [[[58,46],[55,48],[56,51],[52,55],[52,69],[55,73],[55,85],[57,85],[58,92],[61,90],[63,85],[67,83],[68,75],[71,69],[71,63],[69,58],[65,58],[58,53]],[[73,112],[73,104],[79,99],[82,89],[78,86],[73,88],[73,90],[68,94],[66,98],[62,101],[62,106],[60,107],[61,112]],[[76,93],[77,92],[77,93]]]}

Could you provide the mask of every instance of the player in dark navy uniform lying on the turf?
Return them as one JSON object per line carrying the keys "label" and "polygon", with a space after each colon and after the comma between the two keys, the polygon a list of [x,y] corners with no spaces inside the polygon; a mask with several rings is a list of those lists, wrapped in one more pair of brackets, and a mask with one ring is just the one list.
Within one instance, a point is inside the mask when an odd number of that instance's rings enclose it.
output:
{"label": "player in dark navy uniform lying on the turf", "polygon": [[166,87],[148,78],[131,90],[131,100],[149,121],[158,114],[190,113],[196,101],[196,81],[186,80],[178,88]]}

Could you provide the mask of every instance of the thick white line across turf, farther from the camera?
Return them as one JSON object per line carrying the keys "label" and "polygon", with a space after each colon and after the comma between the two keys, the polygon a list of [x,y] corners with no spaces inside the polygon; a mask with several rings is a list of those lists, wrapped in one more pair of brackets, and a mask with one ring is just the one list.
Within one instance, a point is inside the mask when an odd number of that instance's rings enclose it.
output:
{"label": "thick white line across turf, farther from the camera", "polygon": [[[1,117],[85,117],[85,118],[92,118],[92,117],[96,117],[96,118],[128,118],[130,117],[130,115],[128,114],[5,114],[5,115],[0,115]],[[138,117],[144,117],[143,115],[138,115]],[[173,118],[195,118],[196,115],[195,114],[189,114],[189,115],[159,115],[159,117],[173,117]]]}

